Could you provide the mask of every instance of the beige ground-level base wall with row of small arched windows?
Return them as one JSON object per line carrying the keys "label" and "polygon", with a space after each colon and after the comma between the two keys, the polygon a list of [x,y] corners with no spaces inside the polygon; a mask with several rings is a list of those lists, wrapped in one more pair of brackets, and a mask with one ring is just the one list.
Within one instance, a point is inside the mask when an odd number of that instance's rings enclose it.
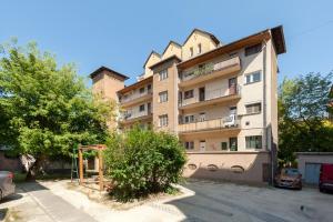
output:
{"label": "beige ground-level base wall with row of small arched windows", "polygon": [[[215,171],[209,170],[209,165],[211,164],[216,167]],[[262,184],[271,178],[269,164],[270,154],[268,152],[188,153],[188,163],[183,175],[186,178]],[[193,165],[196,169],[193,169]],[[238,167],[242,167],[244,171],[236,171],[235,168],[240,169]]]}

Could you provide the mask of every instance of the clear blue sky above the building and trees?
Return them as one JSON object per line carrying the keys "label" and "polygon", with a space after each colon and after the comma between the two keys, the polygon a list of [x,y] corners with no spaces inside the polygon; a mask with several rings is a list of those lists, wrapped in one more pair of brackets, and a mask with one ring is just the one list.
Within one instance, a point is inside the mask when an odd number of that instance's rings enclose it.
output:
{"label": "clear blue sky above the building and trees", "polygon": [[151,50],[162,52],[169,40],[183,43],[193,28],[229,43],[283,24],[287,52],[279,58],[281,81],[333,70],[332,9],[329,0],[2,0],[0,42],[33,40],[60,63],[74,62],[82,77],[107,65],[131,77],[129,84]]}

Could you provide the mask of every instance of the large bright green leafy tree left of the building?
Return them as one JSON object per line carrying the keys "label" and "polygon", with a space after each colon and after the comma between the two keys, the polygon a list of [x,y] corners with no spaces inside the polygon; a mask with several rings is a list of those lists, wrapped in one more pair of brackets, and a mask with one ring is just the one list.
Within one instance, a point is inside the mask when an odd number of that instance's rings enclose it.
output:
{"label": "large bright green leafy tree left of the building", "polygon": [[2,46],[0,144],[36,158],[28,175],[47,158],[69,157],[77,143],[103,142],[113,105],[93,100],[73,64],[59,68],[36,43]]}

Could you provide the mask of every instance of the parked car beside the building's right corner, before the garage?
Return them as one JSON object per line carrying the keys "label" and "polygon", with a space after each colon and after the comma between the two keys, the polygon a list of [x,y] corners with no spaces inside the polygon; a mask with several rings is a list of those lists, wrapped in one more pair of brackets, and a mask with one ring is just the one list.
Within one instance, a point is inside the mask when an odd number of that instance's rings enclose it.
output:
{"label": "parked car beside the building's right corner, before the garage", "polygon": [[275,186],[302,190],[302,174],[297,169],[284,168],[275,176]]}

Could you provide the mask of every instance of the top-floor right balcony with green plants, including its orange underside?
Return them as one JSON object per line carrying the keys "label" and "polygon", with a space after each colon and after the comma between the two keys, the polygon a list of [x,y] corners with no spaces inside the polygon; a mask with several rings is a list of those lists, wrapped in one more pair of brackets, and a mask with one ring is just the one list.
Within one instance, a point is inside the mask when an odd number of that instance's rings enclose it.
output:
{"label": "top-floor right balcony with green plants, including its orange underside", "polygon": [[181,74],[180,88],[191,87],[200,82],[209,81],[225,74],[230,74],[241,70],[241,59],[234,57],[219,62],[206,63],[202,68],[198,68],[192,72]]}

